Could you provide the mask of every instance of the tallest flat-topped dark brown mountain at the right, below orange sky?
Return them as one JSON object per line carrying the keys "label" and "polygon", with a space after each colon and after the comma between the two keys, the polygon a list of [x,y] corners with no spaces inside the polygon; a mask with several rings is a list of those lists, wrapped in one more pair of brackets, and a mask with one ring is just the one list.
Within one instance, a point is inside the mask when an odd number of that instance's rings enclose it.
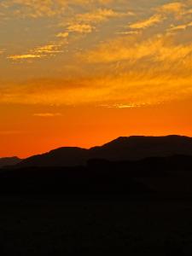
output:
{"label": "tallest flat-topped dark brown mountain at the right, below orange sky", "polygon": [[141,160],[174,154],[192,155],[192,137],[119,137],[102,147],[90,149],[96,158],[107,160]]}

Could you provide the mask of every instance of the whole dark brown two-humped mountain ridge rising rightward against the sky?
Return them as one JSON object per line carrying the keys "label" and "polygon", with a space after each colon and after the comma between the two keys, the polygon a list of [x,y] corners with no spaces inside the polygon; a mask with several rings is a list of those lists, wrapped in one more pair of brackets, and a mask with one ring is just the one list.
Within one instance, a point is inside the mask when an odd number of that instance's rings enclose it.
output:
{"label": "whole dark brown two-humped mountain ridge rising rightward against the sky", "polygon": [[17,167],[27,166],[85,166],[88,160],[142,160],[148,157],[166,157],[175,154],[192,155],[192,138],[119,137],[101,147],[57,148],[22,160]]}

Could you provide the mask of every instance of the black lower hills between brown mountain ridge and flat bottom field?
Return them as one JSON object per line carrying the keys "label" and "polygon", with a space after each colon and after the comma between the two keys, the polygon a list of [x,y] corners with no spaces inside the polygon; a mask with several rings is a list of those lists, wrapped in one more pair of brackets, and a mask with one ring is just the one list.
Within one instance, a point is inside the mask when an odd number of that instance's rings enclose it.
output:
{"label": "black lower hills between brown mountain ridge and flat bottom field", "polygon": [[4,168],[0,195],[192,195],[192,156],[88,160],[86,166]]}

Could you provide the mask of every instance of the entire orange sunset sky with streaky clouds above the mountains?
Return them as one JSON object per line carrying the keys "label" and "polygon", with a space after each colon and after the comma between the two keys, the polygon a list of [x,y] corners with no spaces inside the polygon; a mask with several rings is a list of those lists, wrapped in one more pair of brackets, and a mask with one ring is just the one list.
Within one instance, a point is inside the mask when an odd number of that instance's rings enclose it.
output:
{"label": "entire orange sunset sky with streaky clouds above the mountains", "polygon": [[1,0],[0,157],[192,137],[192,0]]}

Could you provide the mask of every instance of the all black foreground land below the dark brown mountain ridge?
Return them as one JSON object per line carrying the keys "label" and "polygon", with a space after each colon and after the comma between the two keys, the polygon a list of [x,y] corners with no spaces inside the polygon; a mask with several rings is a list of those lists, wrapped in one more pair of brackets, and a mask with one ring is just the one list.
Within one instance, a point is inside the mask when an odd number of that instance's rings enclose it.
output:
{"label": "all black foreground land below the dark brown mountain ridge", "polygon": [[192,255],[192,157],[0,172],[1,255]]}

